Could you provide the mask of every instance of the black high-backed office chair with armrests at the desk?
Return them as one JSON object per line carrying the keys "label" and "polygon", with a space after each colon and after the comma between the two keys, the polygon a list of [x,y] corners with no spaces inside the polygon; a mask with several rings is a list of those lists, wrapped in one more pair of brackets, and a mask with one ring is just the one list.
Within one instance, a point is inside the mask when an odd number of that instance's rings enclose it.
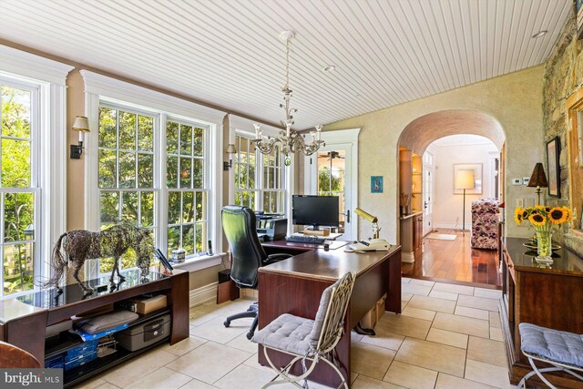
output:
{"label": "black high-backed office chair with armrests at the desk", "polygon": [[[239,288],[257,289],[258,271],[261,266],[290,258],[290,254],[267,255],[257,236],[255,213],[251,208],[228,205],[220,212],[222,230],[229,241],[232,255],[230,278]],[[253,337],[257,328],[258,305],[253,303],[246,312],[230,315],[223,324],[230,326],[233,320],[252,317],[253,323],[247,339]]]}

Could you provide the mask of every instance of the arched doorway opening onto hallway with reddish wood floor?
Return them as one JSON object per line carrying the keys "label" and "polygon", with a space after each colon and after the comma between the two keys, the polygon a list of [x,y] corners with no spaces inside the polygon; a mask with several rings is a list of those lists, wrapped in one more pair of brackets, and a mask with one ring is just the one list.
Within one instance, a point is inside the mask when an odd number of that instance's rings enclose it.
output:
{"label": "arched doorway opening onto hallway with reddish wood floor", "polygon": [[[441,159],[438,158],[439,155],[432,144],[449,136],[486,138],[486,142],[489,142],[492,148],[476,161],[472,151],[458,142],[459,144],[449,145],[451,148],[448,151],[440,151],[440,155],[448,159],[446,163],[443,160],[440,162]],[[425,237],[423,252],[419,256],[414,256],[414,263],[403,264],[404,275],[496,286],[501,284],[497,272],[496,250],[473,249],[470,245],[470,233],[464,234],[455,229],[460,229],[464,225],[464,220],[466,230],[471,229],[472,200],[493,197],[497,193],[500,202],[504,201],[504,166],[500,163],[500,160],[504,159],[499,155],[504,152],[505,140],[504,130],[496,118],[474,110],[437,111],[414,119],[404,128],[397,148],[409,149],[423,157],[423,234],[435,232],[432,234],[433,239]],[[475,183],[479,183],[484,190],[476,191],[473,194],[474,198],[466,199],[466,207],[463,206],[462,196],[456,194],[454,163],[478,165],[473,177],[479,180]],[[399,173],[402,174],[403,171],[400,169]],[[490,177],[490,173],[496,174],[496,177]],[[398,182],[402,184],[403,181],[400,178]],[[399,188],[398,193],[403,190]],[[444,201],[440,200],[440,193]],[[402,201],[403,199],[406,200],[406,196],[402,196]],[[403,229],[404,218],[401,219],[399,242],[403,245],[403,241],[408,238],[402,236],[407,230]]]}

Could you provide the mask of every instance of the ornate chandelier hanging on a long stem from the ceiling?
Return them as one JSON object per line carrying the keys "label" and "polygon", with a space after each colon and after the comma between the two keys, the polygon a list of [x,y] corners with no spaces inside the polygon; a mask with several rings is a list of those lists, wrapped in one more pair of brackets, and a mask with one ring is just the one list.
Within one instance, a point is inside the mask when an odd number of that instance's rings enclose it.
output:
{"label": "ornate chandelier hanging on a long stem from the ceiling", "polygon": [[285,129],[281,129],[279,136],[276,138],[267,137],[266,139],[261,136],[261,125],[254,124],[255,127],[255,139],[251,140],[258,148],[261,154],[270,154],[275,146],[281,147],[281,153],[285,156],[285,166],[290,166],[292,159],[290,159],[290,153],[296,151],[302,151],[304,155],[312,155],[321,146],[325,146],[323,140],[321,140],[322,126],[317,125],[315,131],[311,131],[312,140],[310,143],[306,143],[305,133],[299,133],[295,129],[292,129],[293,116],[292,113],[296,113],[298,110],[290,107],[290,100],[292,99],[292,89],[290,89],[290,41],[295,34],[292,31],[283,31],[280,34],[281,40],[285,41],[285,84],[281,87],[283,92],[283,103],[280,107],[285,110],[285,120],[281,120],[281,126]]}

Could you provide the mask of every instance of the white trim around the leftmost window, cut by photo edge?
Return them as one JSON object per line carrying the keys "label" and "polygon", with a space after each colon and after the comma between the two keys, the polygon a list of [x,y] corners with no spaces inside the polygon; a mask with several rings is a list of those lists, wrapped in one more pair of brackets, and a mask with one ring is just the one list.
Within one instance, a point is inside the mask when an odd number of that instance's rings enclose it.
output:
{"label": "white trim around the leftmost window, cut by photo edge", "polygon": [[[74,67],[8,46],[0,46],[0,73],[26,78],[39,86],[38,174],[42,189],[39,258],[50,258],[58,237],[66,231],[66,76]],[[48,102],[48,104],[47,104]],[[43,136],[43,134],[45,136]],[[47,261],[41,274],[48,276]],[[35,283],[39,280],[36,279]]]}

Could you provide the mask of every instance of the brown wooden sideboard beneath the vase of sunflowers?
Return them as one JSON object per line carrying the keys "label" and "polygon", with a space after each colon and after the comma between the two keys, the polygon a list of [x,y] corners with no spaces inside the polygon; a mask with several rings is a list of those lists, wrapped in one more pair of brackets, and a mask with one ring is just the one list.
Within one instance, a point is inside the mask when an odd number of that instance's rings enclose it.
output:
{"label": "brown wooden sideboard beneath the vase of sunflowers", "polygon": [[[536,252],[523,246],[525,242],[526,239],[506,238],[501,246],[503,299],[500,315],[512,384],[517,384],[532,370],[520,352],[519,323],[531,322],[559,331],[583,333],[583,260],[572,251],[560,249],[553,253],[554,262],[550,267],[540,265],[534,261]],[[560,387],[582,386],[568,374],[545,376],[552,377],[550,381]],[[537,382],[537,376],[528,380],[531,381]]]}

